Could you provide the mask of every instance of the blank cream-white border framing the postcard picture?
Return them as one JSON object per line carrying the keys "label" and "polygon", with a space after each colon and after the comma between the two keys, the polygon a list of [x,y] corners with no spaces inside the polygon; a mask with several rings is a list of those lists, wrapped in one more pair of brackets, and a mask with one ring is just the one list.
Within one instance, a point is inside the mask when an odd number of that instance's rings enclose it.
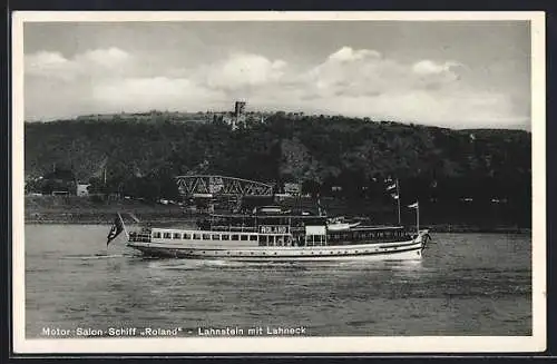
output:
{"label": "blank cream-white border framing the postcard picture", "polygon": [[[531,23],[532,335],[393,337],[63,338],[25,335],[23,22],[527,20]],[[545,13],[528,12],[131,12],[18,11],[12,14],[13,352],[31,353],[465,353],[546,348]]]}

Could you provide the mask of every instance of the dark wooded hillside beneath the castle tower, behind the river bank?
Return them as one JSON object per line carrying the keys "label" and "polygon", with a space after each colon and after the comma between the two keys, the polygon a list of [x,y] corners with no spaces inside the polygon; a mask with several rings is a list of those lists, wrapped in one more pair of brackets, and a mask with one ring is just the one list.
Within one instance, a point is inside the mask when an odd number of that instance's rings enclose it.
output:
{"label": "dark wooded hillside beneath the castle tower, behind the river bank", "polygon": [[[307,193],[385,201],[384,178],[404,200],[505,200],[529,209],[531,135],[452,130],[344,117],[290,118],[232,130],[224,122],[60,120],[26,122],[26,178],[56,168],[107,189],[174,197],[173,176],[219,174],[303,183]],[[339,190],[339,188],[335,188]]]}

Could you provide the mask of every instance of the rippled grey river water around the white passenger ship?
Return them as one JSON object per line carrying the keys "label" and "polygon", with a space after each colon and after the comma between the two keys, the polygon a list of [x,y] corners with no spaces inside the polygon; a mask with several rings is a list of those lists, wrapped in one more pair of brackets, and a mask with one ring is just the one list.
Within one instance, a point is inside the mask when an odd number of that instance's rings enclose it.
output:
{"label": "rippled grey river water around the white passenger ship", "polygon": [[108,229],[26,226],[28,338],[45,337],[46,328],[75,337],[77,328],[110,336],[135,335],[114,331],[134,327],[178,336],[226,327],[531,335],[530,235],[432,234],[417,262],[240,264],[147,259],[123,236],[107,250]]}

